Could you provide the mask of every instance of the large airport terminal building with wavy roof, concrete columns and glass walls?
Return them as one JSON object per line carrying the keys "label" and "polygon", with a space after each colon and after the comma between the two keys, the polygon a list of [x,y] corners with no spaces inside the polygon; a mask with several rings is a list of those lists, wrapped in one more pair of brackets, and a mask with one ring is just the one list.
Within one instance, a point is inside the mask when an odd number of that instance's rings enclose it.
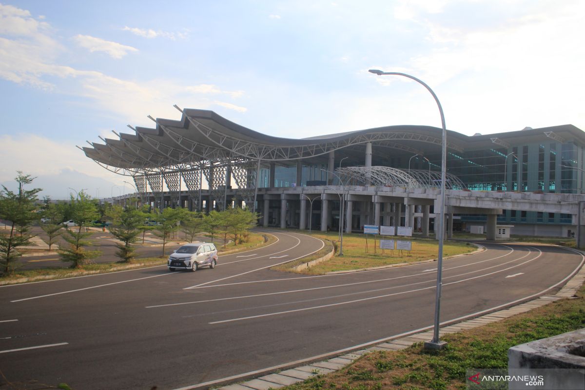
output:
{"label": "large airport terminal building with wavy roof, concrete columns and glass walls", "polygon": [[[178,109],[178,108],[177,108]],[[263,226],[362,231],[363,225],[433,230],[441,133],[385,126],[307,139],[267,136],[212,111],[180,110],[82,148],[128,175],[143,203],[192,210],[241,205]],[[579,234],[585,133],[573,125],[466,136],[447,133],[448,232],[514,226],[513,234]],[[112,199],[122,201],[122,199]],[[343,200],[343,202],[341,202]],[[583,219],[583,222],[581,221]],[[585,234],[581,232],[581,234]]]}

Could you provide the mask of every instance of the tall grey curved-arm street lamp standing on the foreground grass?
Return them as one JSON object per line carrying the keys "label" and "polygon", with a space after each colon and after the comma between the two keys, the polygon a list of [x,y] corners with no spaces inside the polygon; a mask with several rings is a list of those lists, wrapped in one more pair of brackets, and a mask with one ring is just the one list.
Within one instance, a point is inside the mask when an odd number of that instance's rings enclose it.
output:
{"label": "tall grey curved-arm street lamp standing on the foreground grass", "polygon": [[445,126],[445,115],[443,115],[443,108],[441,106],[441,102],[439,102],[439,98],[435,95],[435,92],[425,84],[425,82],[419,80],[416,77],[413,77],[409,74],[405,73],[398,73],[398,72],[383,72],[381,70],[370,69],[370,73],[380,75],[396,75],[407,77],[411,80],[414,80],[421,84],[423,87],[427,89],[427,91],[431,92],[431,95],[435,99],[437,106],[439,108],[439,114],[441,114],[441,126],[442,126],[442,150],[441,150],[441,212],[439,213],[439,254],[437,256],[438,264],[437,264],[437,287],[436,287],[436,296],[435,296],[435,324],[434,324],[434,333],[433,339],[431,341],[425,342],[425,348],[428,349],[441,349],[445,346],[445,341],[441,341],[439,339],[439,313],[441,312],[441,288],[442,288],[442,272],[443,272],[443,236],[445,235],[445,176],[446,176],[446,165],[447,165],[447,128]]}

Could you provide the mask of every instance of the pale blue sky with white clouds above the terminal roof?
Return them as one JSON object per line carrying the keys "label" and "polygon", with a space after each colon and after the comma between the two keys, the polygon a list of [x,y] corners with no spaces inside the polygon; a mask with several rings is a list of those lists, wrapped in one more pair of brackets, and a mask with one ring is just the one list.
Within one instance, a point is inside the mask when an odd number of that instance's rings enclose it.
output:
{"label": "pale blue sky with white clouds above the terminal roof", "polygon": [[0,3],[0,182],[42,195],[129,192],[86,140],[211,109],[273,136],[440,126],[585,129],[585,2],[13,1]]}

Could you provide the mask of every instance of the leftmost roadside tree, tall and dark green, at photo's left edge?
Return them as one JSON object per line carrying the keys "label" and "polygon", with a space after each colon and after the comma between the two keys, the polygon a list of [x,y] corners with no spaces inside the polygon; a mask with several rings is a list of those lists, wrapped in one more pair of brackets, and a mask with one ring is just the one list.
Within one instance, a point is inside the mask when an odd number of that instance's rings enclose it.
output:
{"label": "leftmost roadside tree, tall and dark green, at photo's left edge", "polygon": [[[29,245],[30,236],[28,233],[30,223],[37,218],[35,213],[36,194],[40,188],[25,190],[25,185],[30,184],[34,178],[30,175],[23,175],[17,171],[18,192],[12,192],[2,186],[0,191],[0,218],[11,222],[10,233],[0,234],[0,265],[2,274],[9,274],[14,270],[14,262],[20,257],[15,251],[18,246]],[[16,227],[20,234],[16,233]]]}

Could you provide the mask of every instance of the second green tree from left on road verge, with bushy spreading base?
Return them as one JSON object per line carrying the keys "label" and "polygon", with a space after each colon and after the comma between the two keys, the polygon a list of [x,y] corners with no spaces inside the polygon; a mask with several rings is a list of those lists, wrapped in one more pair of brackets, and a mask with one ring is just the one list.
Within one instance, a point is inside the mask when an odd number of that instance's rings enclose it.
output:
{"label": "second green tree from left on road verge, with bushy spreading base", "polygon": [[73,229],[66,230],[63,239],[69,244],[68,247],[59,247],[61,260],[71,263],[71,268],[80,268],[91,258],[98,257],[100,251],[88,251],[84,247],[91,244],[91,241],[86,240],[91,237],[92,232],[84,232],[82,229],[88,226],[92,220],[98,218],[99,213],[95,202],[91,200],[91,196],[80,191],[77,199],[71,196],[70,200],[71,219],[77,224]]}

